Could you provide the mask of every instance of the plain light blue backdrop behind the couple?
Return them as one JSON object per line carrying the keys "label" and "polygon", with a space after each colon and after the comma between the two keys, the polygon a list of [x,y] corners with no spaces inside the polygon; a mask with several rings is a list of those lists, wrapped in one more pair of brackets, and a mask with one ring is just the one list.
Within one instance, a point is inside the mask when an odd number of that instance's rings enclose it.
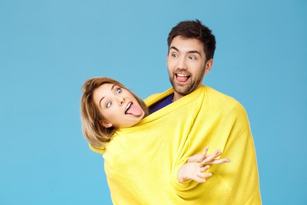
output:
{"label": "plain light blue backdrop behind the couple", "polygon": [[0,204],[111,204],[80,88],[170,88],[167,35],[196,18],[217,39],[204,84],[249,115],[263,204],[306,204],[307,0],[0,0]]}

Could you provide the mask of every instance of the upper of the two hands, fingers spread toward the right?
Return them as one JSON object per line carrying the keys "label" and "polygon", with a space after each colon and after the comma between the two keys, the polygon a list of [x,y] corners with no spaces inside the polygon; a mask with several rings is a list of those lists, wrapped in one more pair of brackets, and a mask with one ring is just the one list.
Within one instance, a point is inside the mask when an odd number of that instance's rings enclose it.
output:
{"label": "upper of the two hands, fingers spread toward the right", "polygon": [[203,162],[205,164],[223,164],[226,162],[231,162],[228,158],[223,159],[215,159],[216,157],[220,156],[222,154],[221,149],[216,150],[213,154],[206,155],[207,151],[209,149],[209,146],[207,146],[203,153],[201,154],[195,154],[193,156],[190,156],[188,158],[189,162]]}

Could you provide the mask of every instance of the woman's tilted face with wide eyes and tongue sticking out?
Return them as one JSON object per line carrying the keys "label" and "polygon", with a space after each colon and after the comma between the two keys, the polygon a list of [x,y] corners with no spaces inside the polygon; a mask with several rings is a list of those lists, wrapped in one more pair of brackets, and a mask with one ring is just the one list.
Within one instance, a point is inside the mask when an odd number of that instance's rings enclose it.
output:
{"label": "woman's tilted face with wide eyes and tongue sticking out", "polygon": [[124,88],[114,84],[103,84],[94,91],[94,102],[100,114],[106,119],[104,127],[131,127],[144,117],[133,95]]}

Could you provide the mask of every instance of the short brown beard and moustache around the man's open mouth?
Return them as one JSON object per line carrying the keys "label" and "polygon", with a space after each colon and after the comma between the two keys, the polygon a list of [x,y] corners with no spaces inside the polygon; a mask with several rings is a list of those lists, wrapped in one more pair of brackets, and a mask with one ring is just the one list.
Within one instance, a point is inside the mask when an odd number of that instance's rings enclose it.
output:
{"label": "short brown beard and moustache around the man's open mouth", "polygon": [[[177,93],[179,93],[180,95],[187,95],[187,94],[193,92],[200,85],[202,85],[202,81],[203,81],[203,77],[204,77],[204,73],[205,73],[205,66],[204,66],[204,68],[199,73],[197,73],[195,75],[196,79],[192,80],[192,76],[190,75],[191,82],[190,82],[189,85],[185,85],[185,86],[180,86],[180,84],[177,82],[177,79],[175,79],[176,75],[174,75],[174,73],[180,73],[179,69],[176,70],[175,72],[173,72],[172,77],[170,75],[170,82],[171,82],[174,90]],[[186,71],[183,72],[183,73],[190,74],[190,73],[188,73]]]}

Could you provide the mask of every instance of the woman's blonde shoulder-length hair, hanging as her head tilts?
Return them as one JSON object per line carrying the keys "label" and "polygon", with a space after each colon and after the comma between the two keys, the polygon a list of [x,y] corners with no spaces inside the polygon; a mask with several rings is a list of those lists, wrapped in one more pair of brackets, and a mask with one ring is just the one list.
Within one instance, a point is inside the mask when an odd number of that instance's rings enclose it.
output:
{"label": "woman's blonde shoulder-length hair, hanging as her head tilts", "polygon": [[[102,126],[102,122],[105,121],[105,118],[98,112],[98,108],[95,105],[93,99],[93,94],[95,89],[106,83],[127,89],[120,82],[106,77],[90,78],[82,86],[82,92],[83,92],[81,98],[82,132],[84,138],[92,146],[95,147],[104,146],[106,142],[109,142],[116,130],[114,127]],[[148,116],[149,111],[145,102],[130,90],[128,91],[135,97],[135,99],[141,106],[142,110],[145,113],[144,117]]]}

